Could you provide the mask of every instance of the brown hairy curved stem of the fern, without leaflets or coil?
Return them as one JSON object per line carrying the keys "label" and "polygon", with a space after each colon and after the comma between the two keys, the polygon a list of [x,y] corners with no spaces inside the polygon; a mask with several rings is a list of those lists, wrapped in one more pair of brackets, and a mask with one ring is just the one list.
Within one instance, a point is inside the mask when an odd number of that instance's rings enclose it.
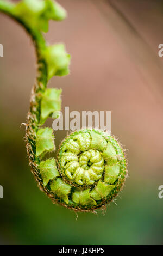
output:
{"label": "brown hairy curved stem of the fern, without leaflets or coil", "polygon": [[[17,17],[12,11],[13,4],[9,2],[4,2],[0,0],[0,12],[8,15],[16,22],[20,23],[22,27],[26,30],[35,46],[35,52],[37,57],[37,77],[32,87],[30,96],[30,108],[27,114],[26,123],[26,148],[29,157],[29,165],[32,168],[32,173],[34,174],[37,182],[39,182],[40,188],[44,190],[41,179],[39,176],[39,169],[37,164],[40,162],[40,157],[35,156],[35,140],[36,132],[39,129],[40,121],[40,100],[41,93],[45,92],[47,87],[47,63],[44,58],[42,58],[41,52],[46,49],[46,41],[40,31],[29,27],[27,23],[23,22],[19,17]],[[45,191],[47,193],[47,191]]]}

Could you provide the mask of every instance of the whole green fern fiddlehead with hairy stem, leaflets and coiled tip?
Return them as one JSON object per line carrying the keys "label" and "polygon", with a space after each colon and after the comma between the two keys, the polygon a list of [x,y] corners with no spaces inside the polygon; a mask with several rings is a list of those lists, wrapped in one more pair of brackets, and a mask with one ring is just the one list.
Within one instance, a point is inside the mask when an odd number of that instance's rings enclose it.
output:
{"label": "whole green fern fiddlehead with hairy stem, leaflets and coiled tip", "polygon": [[120,191],[127,174],[123,150],[114,137],[95,129],[75,131],[61,143],[57,160],[42,160],[55,150],[53,130],[42,125],[61,109],[61,90],[47,88],[47,82],[54,75],[67,75],[70,64],[64,45],[47,46],[42,32],[48,31],[48,20],[63,20],[66,11],[53,0],[0,0],[0,11],[26,29],[36,48],[38,75],[26,124],[32,173],[54,203],[75,211],[102,208]]}

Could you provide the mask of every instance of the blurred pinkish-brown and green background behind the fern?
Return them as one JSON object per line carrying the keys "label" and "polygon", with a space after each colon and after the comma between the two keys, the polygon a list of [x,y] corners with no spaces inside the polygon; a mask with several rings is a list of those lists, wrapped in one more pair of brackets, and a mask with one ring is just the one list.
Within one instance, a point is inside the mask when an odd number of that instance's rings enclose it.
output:
{"label": "blurred pinkish-brown and green background behind the fern", "polygon": [[[15,1],[16,2],[16,1]],[[111,132],[127,150],[129,176],[105,215],[53,205],[36,186],[23,137],[36,75],[32,42],[0,14],[0,243],[14,245],[162,244],[163,4],[159,0],[60,0],[68,11],[50,22],[49,43],[65,42],[71,74],[54,77],[62,109],[111,111]],[[49,120],[52,127],[52,119]],[[67,131],[55,134],[58,145]]]}

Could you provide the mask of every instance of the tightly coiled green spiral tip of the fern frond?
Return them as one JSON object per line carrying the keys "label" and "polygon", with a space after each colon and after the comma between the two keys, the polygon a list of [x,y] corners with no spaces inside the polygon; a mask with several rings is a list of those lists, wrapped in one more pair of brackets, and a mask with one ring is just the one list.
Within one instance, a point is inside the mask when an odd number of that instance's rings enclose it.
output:
{"label": "tightly coiled green spiral tip of the fern frond", "polygon": [[[57,169],[59,176],[54,178],[45,171],[49,193],[68,208],[92,211],[108,204],[120,191],[127,163],[114,137],[101,130],[83,129],[61,143]],[[40,174],[43,179],[42,170]]]}

